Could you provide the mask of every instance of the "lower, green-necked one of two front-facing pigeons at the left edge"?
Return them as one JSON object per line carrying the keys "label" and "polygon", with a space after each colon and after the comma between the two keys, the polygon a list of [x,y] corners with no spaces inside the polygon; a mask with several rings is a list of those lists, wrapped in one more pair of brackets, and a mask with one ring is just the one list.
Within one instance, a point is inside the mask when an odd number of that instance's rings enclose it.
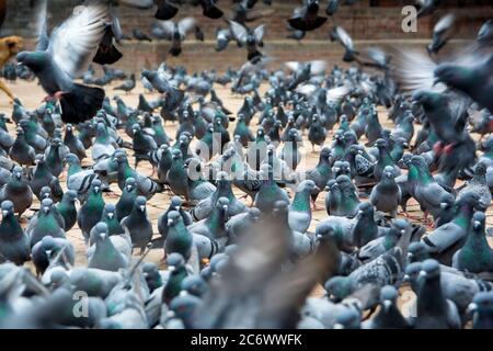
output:
{"label": "lower, green-necked one of two front-facing pigeons at the left edge", "polygon": [[14,204],[5,200],[1,203],[0,261],[10,261],[18,265],[31,260],[31,247],[27,235],[14,216]]}

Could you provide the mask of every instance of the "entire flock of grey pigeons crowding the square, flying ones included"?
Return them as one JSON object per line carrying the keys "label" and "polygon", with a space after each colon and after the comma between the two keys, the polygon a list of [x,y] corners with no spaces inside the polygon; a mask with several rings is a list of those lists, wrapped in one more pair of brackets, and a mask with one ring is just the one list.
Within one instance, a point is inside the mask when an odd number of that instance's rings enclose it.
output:
{"label": "entire flock of grey pigeons crowding the square, flying ones included", "polygon": [[[222,15],[216,1],[197,2],[204,15]],[[424,2],[423,15],[439,5]],[[160,20],[180,9],[158,3]],[[328,13],[337,5],[329,1]],[[16,59],[48,97],[33,111],[16,99],[0,118],[0,327],[493,327],[492,21],[446,61],[436,53],[450,16],[428,53],[359,53],[335,27],[343,60],[355,64],[330,71],[324,61],[267,69],[273,60],[256,49],[263,29],[230,21],[249,52],[241,69],[190,75],[162,64],[141,72],[159,99],[140,94],[129,106],[93,86],[126,79],[116,89],[128,92],[135,75],[88,70],[115,53],[118,24],[106,1],[85,1],[50,36],[46,3],[36,11],[37,47]],[[326,20],[318,11],[319,1],[306,0],[289,24],[316,30]],[[192,22],[162,27],[174,33],[175,54],[185,27]],[[239,111],[228,110],[217,84],[242,97]],[[380,124],[383,109],[391,129]],[[306,152],[319,155],[313,168],[303,167],[303,139]],[[141,162],[152,165],[151,177]],[[158,234],[147,203],[162,192],[170,202]],[[25,218],[36,197],[38,211]],[[313,226],[319,197],[328,215]],[[411,199],[423,226],[410,220]],[[74,264],[72,228],[87,267]],[[164,270],[146,260],[151,250],[162,250]],[[403,292],[414,296],[406,310]]]}

